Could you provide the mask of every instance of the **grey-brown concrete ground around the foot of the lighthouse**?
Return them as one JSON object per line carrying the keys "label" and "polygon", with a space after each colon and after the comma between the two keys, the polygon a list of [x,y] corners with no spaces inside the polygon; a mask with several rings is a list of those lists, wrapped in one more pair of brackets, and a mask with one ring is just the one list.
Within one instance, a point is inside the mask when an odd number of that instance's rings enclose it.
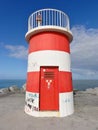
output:
{"label": "grey-brown concrete ground around the foot of the lighthouse", "polygon": [[98,88],[77,91],[75,112],[64,118],[35,118],[24,113],[24,90],[0,93],[0,130],[98,130]]}

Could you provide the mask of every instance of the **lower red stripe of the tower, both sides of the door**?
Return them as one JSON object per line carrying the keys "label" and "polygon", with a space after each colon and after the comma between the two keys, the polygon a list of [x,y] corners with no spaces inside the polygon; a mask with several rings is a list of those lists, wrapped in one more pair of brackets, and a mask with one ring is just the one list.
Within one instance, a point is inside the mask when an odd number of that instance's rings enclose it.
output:
{"label": "lower red stripe of the tower, both sides of the door", "polygon": [[[59,93],[71,92],[72,87],[72,73],[59,71],[58,74],[58,87]],[[40,72],[28,72],[27,73],[27,88],[29,92],[39,93],[40,89]]]}

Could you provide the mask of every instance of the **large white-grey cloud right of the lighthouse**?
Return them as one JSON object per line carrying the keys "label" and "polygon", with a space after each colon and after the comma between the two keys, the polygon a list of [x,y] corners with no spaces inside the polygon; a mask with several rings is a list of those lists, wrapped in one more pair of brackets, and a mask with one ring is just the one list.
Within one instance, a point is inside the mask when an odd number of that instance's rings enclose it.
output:
{"label": "large white-grey cloud right of the lighthouse", "polygon": [[[83,76],[98,73],[98,29],[74,26],[71,44],[72,70]],[[82,71],[80,71],[82,70]]]}

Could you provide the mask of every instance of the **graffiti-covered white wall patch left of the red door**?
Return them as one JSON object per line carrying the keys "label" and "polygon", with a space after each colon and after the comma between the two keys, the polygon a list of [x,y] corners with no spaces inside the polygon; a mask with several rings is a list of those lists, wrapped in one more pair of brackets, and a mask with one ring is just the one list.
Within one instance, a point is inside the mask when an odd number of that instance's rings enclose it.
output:
{"label": "graffiti-covered white wall patch left of the red door", "polygon": [[39,94],[38,93],[26,93],[26,111],[33,112],[39,111]]}

